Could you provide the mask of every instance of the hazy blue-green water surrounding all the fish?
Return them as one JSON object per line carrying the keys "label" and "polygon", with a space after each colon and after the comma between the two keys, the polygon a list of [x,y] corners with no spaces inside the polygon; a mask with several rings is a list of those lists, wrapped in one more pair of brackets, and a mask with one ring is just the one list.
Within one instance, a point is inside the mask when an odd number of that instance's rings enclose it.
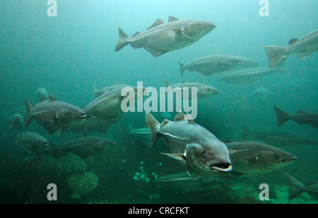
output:
{"label": "hazy blue-green water surrounding all the fish", "polygon": [[[317,29],[317,2],[314,0],[269,1],[269,16],[259,16],[257,0],[119,0],[59,1],[57,16],[47,16],[47,1],[0,2],[0,178],[13,188],[0,188],[1,203],[52,203],[47,200],[47,185],[58,188],[57,203],[317,203],[303,193],[288,201],[288,182],[283,172],[302,181],[317,181],[317,145],[284,147],[298,157],[290,166],[259,175],[276,190],[277,199],[262,202],[259,190],[244,178],[211,190],[182,193],[175,188],[155,188],[153,175],[183,173],[184,169],[168,153],[163,142],[149,149],[126,132],[145,127],[144,113],[126,113],[106,134],[116,144],[102,154],[85,159],[88,171],[98,176],[98,186],[81,199],[73,199],[67,180],[69,173],[39,170],[38,160],[25,161],[15,147],[16,136],[7,134],[8,120],[14,113],[26,117],[25,99],[37,103],[37,89],[44,87],[59,101],[84,108],[94,98],[93,87],[114,83],[164,87],[181,80],[179,64],[206,54],[232,54],[255,59],[268,67],[265,45],[287,46]],[[216,24],[216,29],[182,50],[152,57],[146,50],[130,46],[114,52],[117,27],[127,35],[146,30],[157,18],[169,16]],[[204,76],[187,71],[183,78],[218,88],[220,94],[199,99],[195,122],[225,142],[242,140],[242,125],[259,132],[289,132],[318,141],[317,129],[287,122],[277,126],[273,106],[290,113],[318,111],[317,53],[300,61],[293,54],[285,64],[285,74],[275,73],[253,84],[224,84],[220,76]],[[261,101],[250,96],[264,86],[274,98]],[[172,117],[176,113],[172,113]],[[153,113],[159,120],[160,113]],[[161,119],[161,120],[160,120]],[[28,130],[52,142],[57,135],[47,134],[33,121]],[[62,134],[60,142],[76,137]],[[149,178],[136,178],[144,175]],[[1,184],[0,184],[1,185]],[[54,203],[54,202],[53,202]]]}

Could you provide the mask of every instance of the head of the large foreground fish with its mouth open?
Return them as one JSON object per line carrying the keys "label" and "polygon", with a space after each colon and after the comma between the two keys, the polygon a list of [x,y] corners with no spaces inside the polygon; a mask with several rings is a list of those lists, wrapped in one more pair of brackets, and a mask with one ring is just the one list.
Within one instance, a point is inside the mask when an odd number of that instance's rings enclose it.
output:
{"label": "head of the large foreground fish with its mouth open", "polygon": [[206,140],[200,144],[188,144],[184,156],[188,166],[199,175],[214,176],[232,171],[228,148],[222,142]]}

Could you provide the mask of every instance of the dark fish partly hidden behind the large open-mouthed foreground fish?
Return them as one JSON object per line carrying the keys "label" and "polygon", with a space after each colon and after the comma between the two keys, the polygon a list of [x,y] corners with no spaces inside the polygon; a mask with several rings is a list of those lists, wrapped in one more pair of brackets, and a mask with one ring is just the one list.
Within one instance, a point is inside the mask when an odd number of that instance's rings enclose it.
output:
{"label": "dark fish partly hidden behind the large open-mouthed foreground fish", "polygon": [[232,174],[253,176],[293,164],[293,154],[261,142],[225,142],[231,151]]}

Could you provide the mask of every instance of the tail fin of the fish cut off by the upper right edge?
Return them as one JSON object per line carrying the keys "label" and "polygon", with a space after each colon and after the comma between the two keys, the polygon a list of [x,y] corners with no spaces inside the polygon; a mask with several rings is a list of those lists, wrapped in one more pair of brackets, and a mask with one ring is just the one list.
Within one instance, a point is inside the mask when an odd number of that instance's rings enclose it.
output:
{"label": "tail fin of the fish cut off by the upper right edge", "polygon": [[267,53],[267,56],[269,57],[269,67],[271,69],[283,62],[286,58],[288,58],[288,55],[285,54],[285,47],[265,46],[264,49]]}

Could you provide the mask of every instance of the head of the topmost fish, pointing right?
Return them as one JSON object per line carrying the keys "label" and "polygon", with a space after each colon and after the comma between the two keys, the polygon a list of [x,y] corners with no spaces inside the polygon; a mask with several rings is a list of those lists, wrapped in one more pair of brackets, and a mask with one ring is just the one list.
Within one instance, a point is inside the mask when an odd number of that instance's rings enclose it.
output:
{"label": "head of the topmost fish, pointing right", "polygon": [[210,33],[216,25],[213,23],[208,23],[205,21],[191,21],[183,25],[182,30],[183,34],[191,40],[199,40],[203,38],[204,35]]}

